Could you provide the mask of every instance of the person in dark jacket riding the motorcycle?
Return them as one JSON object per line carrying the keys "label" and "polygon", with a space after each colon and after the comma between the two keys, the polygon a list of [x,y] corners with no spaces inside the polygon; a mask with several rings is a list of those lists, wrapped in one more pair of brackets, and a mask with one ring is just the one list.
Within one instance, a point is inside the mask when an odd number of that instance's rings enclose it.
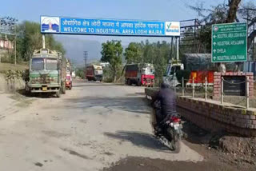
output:
{"label": "person in dark jacket riding the motorcycle", "polygon": [[155,102],[160,102],[161,109],[155,112],[156,120],[157,120],[157,127],[158,129],[161,128],[160,123],[167,117],[176,115],[176,94],[170,86],[166,83],[161,84],[161,89],[158,93],[154,96],[152,100],[152,105]]}

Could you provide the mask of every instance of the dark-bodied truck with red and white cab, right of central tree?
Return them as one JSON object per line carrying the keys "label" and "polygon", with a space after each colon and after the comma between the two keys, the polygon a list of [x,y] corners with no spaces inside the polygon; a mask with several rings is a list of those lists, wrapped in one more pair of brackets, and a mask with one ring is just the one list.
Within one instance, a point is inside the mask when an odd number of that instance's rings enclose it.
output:
{"label": "dark-bodied truck with red and white cab, right of central tree", "polygon": [[154,85],[154,66],[150,63],[127,64],[125,74],[126,85]]}

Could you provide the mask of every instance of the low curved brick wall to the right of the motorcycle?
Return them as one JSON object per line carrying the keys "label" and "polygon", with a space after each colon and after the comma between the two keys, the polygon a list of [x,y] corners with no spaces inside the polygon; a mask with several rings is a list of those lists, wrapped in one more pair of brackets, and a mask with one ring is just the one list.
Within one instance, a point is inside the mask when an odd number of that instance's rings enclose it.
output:
{"label": "low curved brick wall to the right of the motorcycle", "polygon": [[211,132],[224,130],[256,137],[256,110],[239,109],[214,102],[178,97],[178,112],[187,120]]}

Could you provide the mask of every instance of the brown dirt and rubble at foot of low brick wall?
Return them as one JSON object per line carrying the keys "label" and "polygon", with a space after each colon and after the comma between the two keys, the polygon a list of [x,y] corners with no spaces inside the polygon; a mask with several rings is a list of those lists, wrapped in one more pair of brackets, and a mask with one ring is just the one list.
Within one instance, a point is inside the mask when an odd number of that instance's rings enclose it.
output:
{"label": "brown dirt and rubble at foot of low brick wall", "polygon": [[255,170],[255,138],[237,137],[225,132],[209,133],[189,121],[183,126],[187,134],[183,142],[206,161],[215,165],[230,165],[238,170]]}

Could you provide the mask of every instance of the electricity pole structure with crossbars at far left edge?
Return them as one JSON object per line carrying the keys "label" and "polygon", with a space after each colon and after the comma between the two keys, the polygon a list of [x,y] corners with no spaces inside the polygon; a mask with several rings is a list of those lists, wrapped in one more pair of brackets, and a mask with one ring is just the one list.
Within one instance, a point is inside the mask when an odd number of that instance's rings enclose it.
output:
{"label": "electricity pole structure with crossbars at far left edge", "polygon": [[[17,34],[16,34],[16,23],[18,22],[18,19],[16,18],[10,18],[10,17],[4,17],[0,18],[0,34],[10,34],[14,35],[14,41],[15,41],[15,49],[14,49],[14,64],[17,63]],[[14,29],[14,33],[13,33]],[[1,62],[1,58],[0,58]]]}

